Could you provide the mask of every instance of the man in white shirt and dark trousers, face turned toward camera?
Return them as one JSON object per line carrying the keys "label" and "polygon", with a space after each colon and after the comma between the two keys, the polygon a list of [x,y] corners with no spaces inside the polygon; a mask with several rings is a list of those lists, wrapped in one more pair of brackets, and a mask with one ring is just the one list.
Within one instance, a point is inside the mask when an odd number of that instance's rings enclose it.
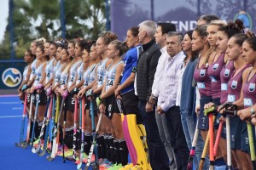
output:
{"label": "man in white shirt and dark trousers, face turned toward camera", "polygon": [[[165,114],[166,126],[171,138],[171,146],[177,169],[187,169],[189,160],[189,148],[183,133],[183,126],[179,107],[176,106],[178,73],[183,64],[185,55],[182,51],[181,42],[183,35],[178,32],[168,32],[166,36],[167,53],[170,55],[162,68],[162,76],[159,80],[159,95],[157,102],[157,113]],[[165,129],[164,129],[165,130]]]}

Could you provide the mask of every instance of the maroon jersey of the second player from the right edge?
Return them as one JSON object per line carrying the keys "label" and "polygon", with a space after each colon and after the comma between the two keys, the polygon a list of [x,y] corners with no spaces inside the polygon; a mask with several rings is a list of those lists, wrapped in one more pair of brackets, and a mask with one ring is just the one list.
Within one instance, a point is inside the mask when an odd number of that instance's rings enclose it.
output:
{"label": "maroon jersey of the second player from the right edge", "polygon": [[237,74],[236,71],[233,71],[230,77],[230,81],[228,82],[228,102],[233,103],[240,98],[242,86],[242,73],[249,66],[250,65],[245,65]]}

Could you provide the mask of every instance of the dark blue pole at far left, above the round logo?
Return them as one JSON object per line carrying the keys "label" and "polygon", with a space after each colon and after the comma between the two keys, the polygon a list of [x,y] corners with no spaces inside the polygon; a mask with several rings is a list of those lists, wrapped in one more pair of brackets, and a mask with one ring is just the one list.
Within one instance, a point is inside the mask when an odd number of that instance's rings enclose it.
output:
{"label": "dark blue pole at far left, above the round logo", "polygon": [[12,65],[15,65],[15,48],[14,48],[14,39],[15,39],[15,32],[14,32],[14,1],[9,0],[9,42],[11,48],[11,60]]}

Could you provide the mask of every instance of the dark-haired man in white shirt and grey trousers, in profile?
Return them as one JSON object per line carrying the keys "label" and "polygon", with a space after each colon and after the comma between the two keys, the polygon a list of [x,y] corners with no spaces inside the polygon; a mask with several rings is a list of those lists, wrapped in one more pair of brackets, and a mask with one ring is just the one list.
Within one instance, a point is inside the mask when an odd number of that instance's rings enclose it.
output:
{"label": "dark-haired man in white shirt and grey trousers, in profile", "polygon": [[[159,82],[163,73],[162,69],[165,68],[166,59],[170,57],[169,54],[167,54],[167,50],[166,50],[166,35],[169,31],[176,31],[176,26],[170,22],[157,23],[157,29],[155,31],[154,38],[155,38],[155,42],[160,45],[161,56],[160,56],[160,59],[158,60],[157,68],[154,73],[152,94],[149,98],[149,102],[153,103],[154,105],[156,105],[155,101],[160,91]],[[156,119],[157,127],[160,133],[160,139],[162,140],[163,144],[165,144],[166,152],[170,160],[170,168],[175,170],[176,163],[173,156],[174,155],[173,149],[170,143],[171,141],[170,135],[169,133],[167,133],[168,130],[166,126],[166,116],[160,115],[157,112],[155,112],[155,119]]]}

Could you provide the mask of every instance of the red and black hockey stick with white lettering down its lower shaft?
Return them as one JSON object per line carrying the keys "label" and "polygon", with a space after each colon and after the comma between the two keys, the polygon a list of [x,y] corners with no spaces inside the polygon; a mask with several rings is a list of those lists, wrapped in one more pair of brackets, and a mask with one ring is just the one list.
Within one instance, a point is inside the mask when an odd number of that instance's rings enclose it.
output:
{"label": "red and black hockey stick with white lettering down its lower shaft", "polygon": [[78,99],[74,98],[74,100],[75,100],[75,107],[73,112],[73,161],[76,161]]}

